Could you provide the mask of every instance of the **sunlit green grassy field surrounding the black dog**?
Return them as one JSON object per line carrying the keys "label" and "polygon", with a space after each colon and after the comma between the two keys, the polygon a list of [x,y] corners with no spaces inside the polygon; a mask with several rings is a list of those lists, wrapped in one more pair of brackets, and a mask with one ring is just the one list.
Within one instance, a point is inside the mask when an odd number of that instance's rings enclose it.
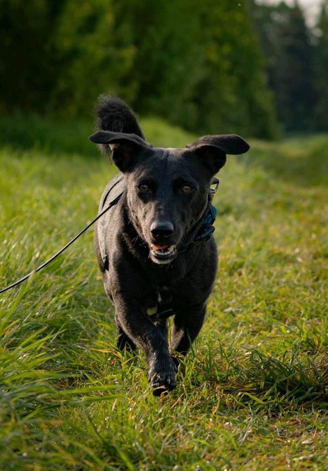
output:
{"label": "sunlit green grassy field surrounding the black dog", "polygon": [[[3,287],[95,216],[115,168],[91,125],[0,126]],[[0,295],[0,470],[328,470],[328,136],[251,144],[219,174],[217,282],[167,397],[115,347],[92,231]]]}

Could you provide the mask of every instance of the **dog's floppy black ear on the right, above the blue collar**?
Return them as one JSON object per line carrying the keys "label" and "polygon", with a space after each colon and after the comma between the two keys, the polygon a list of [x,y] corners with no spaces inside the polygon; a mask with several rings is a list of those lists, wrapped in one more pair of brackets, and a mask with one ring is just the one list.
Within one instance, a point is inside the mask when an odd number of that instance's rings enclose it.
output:
{"label": "dog's floppy black ear on the right, above the blue collar", "polygon": [[236,134],[203,136],[187,147],[201,157],[213,174],[225,164],[226,154],[245,154],[249,149],[247,142]]}

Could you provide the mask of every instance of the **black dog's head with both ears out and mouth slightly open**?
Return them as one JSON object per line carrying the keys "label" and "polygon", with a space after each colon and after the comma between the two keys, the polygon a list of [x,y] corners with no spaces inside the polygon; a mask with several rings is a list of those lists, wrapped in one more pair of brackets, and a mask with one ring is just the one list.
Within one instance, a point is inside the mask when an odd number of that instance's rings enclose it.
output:
{"label": "black dog's head with both ears out and mouth slightly open", "polygon": [[98,131],[90,140],[109,145],[123,172],[127,203],[150,259],[171,262],[209,203],[213,176],[226,154],[244,154],[249,146],[235,134],[209,135],[185,149],[153,148],[136,134]]}

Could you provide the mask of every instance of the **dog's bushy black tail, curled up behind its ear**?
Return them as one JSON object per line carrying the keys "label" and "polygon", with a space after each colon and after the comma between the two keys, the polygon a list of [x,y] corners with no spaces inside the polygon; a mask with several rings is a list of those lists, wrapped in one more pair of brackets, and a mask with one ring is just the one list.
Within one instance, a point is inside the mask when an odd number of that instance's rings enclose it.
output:
{"label": "dog's bushy black tail, curled up behind its ear", "polygon": [[[96,105],[96,129],[97,131],[125,132],[137,134],[145,140],[137,118],[129,106],[117,97],[100,95]],[[111,150],[108,144],[98,144],[101,152],[111,158]]]}

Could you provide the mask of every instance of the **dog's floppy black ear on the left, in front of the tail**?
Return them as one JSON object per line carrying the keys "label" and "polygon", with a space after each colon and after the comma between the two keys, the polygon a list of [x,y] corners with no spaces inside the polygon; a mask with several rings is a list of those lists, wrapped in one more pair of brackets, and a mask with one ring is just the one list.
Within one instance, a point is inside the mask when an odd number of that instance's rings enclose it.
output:
{"label": "dog's floppy black ear on the left, in front of the tail", "polygon": [[89,139],[99,144],[100,149],[106,154],[109,147],[112,161],[122,172],[128,172],[134,167],[137,156],[142,150],[151,149],[137,134],[97,131]]}

